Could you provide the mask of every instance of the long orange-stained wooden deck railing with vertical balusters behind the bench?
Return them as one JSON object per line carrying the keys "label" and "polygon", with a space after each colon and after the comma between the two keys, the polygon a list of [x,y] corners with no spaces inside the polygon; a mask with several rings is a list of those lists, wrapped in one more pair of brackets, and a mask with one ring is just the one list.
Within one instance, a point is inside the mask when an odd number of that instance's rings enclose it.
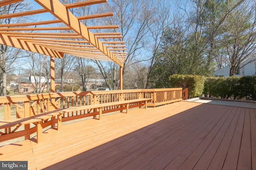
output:
{"label": "long orange-stained wooden deck railing with vertical balusters behind the bench", "polygon": [[[166,89],[136,89],[136,90],[109,90],[91,92],[62,92],[47,94],[31,94],[22,96],[0,97],[0,121],[28,117],[51,111],[54,109],[86,106],[91,104],[117,102],[121,100],[132,100],[138,98],[152,98],[148,106],[159,106],[182,100],[182,88]],[[130,104],[129,108],[137,107],[137,104]],[[1,108],[2,107],[2,108]],[[121,106],[105,107],[102,113],[122,110]],[[89,111],[79,113],[66,113],[62,115],[62,121],[69,121],[86,117]],[[90,112],[92,112],[90,110]]]}

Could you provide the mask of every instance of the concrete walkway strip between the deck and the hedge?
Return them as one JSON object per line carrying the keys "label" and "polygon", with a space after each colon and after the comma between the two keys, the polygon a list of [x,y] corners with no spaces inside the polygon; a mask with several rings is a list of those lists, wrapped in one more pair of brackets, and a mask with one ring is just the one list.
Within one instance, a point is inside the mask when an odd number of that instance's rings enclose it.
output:
{"label": "concrete walkway strip between the deck and the hedge", "polygon": [[235,100],[213,99],[213,98],[192,98],[184,101],[256,109],[256,102],[254,101],[244,101],[244,100],[235,101]]}

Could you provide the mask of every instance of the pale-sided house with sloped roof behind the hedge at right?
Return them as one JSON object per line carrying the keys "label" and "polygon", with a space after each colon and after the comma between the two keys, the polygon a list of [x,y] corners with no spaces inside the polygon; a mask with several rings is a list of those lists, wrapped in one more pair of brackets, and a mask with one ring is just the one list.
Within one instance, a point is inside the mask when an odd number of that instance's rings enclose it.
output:
{"label": "pale-sided house with sloped roof behind the hedge at right", "polygon": [[[246,61],[244,61],[243,63],[240,64],[240,69],[235,73],[234,76],[253,76],[253,75],[256,75],[256,63],[255,62],[248,63],[248,61],[250,61],[250,60],[247,59]],[[246,64],[246,63],[248,63],[248,64]],[[244,64],[246,64],[246,65],[243,66]],[[221,76],[228,77],[229,72],[230,72],[230,67],[225,66],[225,67],[223,67],[219,70],[216,70],[215,72],[213,72],[213,74],[214,74],[214,76],[218,76],[218,77],[221,77]]]}

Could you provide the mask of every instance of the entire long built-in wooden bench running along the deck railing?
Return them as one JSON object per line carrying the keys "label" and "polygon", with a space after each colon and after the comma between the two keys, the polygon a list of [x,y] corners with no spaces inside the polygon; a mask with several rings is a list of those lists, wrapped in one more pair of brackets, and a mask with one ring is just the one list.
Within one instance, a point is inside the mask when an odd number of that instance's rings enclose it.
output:
{"label": "entire long built-in wooden bench running along the deck railing", "polygon": [[[5,133],[0,132],[0,141],[4,141],[3,137],[5,139],[13,139],[12,133],[14,133],[21,125],[25,125],[25,129],[23,131],[18,131],[15,133],[19,133],[20,136],[25,136],[25,139],[29,139],[30,134],[32,134],[32,129],[30,129],[30,123],[33,123],[36,125],[36,133],[37,133],[37,143],[40,143],[42,141],[42,129],[43,127],[43,122],[44,124],[46,123],[46,126],[52,125],[54,127],[56,123],[56,116],[57,116],[57,130],[61,129],[61,123],[62,123],[62,113],[67,113],[67,112],[73,112],[73,111],[81,111],[81,110],[87,110],[87,109],[99,109],[98,114],[99,114],[99,119],[102,118],[102,108],[103,107],[108,107],[108,106],[114,106],[114,105],[125,105],[126,107],[126,113],[128,113],[129,109],[129,104],[130,103],[135,103],[135,102],[140,102],[140,106],[142,105],[142,102],[144,102],[145,108],[147,108],[147,101],[151,100],[151,98],[141,98],[141,99],[134,99],[134,100],[123,100],[123,101],[118,101],[118,102],[109,102],[109,103],[102,103],[102,104],[92,104],[92,105],[87,105],[87,106],[78,106],[78,107],[69,107],[69,108],[63,108],[63,109],[56,109],[53,111],[48,111],[45,113],[41,113],[38,115],[33,115],[30,117],[24,117],[24,118],[17,118],[17,119],[12,119],[12,120],[6,120],[6,121],[0,121],[0,129],[5,129]],[[96,113],[88,113],[88,115],[93,115],[96,117]],[[47,124],[47,119],[52,119],[50,121],[51,124]],[[28,127],[26,127],[26,125]],[[14,130],[11,131],[10,128],[16,127]],[[8,137],[7,137],[8,136]],[[2,139],[1,139],[2,138]]]}

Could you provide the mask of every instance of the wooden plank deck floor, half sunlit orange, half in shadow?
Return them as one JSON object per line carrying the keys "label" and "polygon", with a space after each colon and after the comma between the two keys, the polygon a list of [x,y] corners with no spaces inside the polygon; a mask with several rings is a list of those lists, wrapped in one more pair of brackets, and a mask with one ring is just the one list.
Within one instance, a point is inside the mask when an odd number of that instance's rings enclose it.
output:
{"label": "wooden plank deck floor, half sunlit orange, half in shadow", "polygon": [[176,102],[48,129],[0,147],[28,169],[256,169],[256,109]]}

